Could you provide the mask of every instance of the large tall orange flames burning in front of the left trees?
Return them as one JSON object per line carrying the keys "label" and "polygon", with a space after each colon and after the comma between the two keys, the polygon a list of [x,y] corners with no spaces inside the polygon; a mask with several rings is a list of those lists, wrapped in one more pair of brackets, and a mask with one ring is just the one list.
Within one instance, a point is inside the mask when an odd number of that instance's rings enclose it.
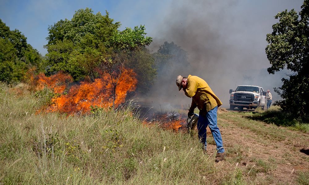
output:
{"label": "large tall orange flames burning in front of the left trees", "polygon": [[[112,106],[114,86],[110,75],[104,72],[100,72],[100,75],[101,78],[95,79],[94,82],[85,80],[80,84],[72,85],[72,78],[68,74],[59,72],[51,77],[40,74],[34,78],[33,86],[37,90],[47,86],[53,88],[55,93],[62,94],[53,99],[54,104],[47,108],[47,112],[85,113],[91,109],[91,106]],[[137,85],[136,74],[132,69],[125,69],[121,74],[121,79],[116,86],[115,106],[124,103],[127,92],[134,91]]]}

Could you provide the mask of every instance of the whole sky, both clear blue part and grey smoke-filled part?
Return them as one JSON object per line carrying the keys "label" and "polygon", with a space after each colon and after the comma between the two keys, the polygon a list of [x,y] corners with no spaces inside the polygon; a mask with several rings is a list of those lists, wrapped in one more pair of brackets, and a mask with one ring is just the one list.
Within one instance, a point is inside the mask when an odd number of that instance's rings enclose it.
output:
{"label": "whole sky, both clear blue part and grey smoke-filled part", "polygon": [[153,37],[150,50],[157,51],[164,41],[181,46],[193,69],[181,74],[196,74],[220,93],[245,85],[247,77],[265,89],[281,86],[276,76],[265,75],[263,82],[258,78],[260,70],[271,66],[265,54],[266,34],[272,32],[278,12],[299,12],[302,4],[303,0],[1,0],[0,19],[22,32],[44,56],[49,25],[70,20],[86,7],[94,14],[107,10],[110,18],[121,22],[120,29],[145,25],[147,36]]}

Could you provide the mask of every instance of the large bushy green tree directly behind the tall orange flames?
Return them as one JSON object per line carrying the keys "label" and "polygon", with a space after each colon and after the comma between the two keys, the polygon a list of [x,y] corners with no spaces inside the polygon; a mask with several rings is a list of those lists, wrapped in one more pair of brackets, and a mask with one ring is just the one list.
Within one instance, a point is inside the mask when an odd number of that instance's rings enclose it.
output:
{"label": "large bushy green tree directly behind the tall orange flames", "polygon": [[93,14],[89,8],[75,11],[71,20],[60,20],[49,26],[47,60],[48,74],[59,70],[69,73],[75,81],[89,76],[97,77],[95,68],[100,64],[100,56],[106,53],[104,42],[120,23],[100,12]]}

